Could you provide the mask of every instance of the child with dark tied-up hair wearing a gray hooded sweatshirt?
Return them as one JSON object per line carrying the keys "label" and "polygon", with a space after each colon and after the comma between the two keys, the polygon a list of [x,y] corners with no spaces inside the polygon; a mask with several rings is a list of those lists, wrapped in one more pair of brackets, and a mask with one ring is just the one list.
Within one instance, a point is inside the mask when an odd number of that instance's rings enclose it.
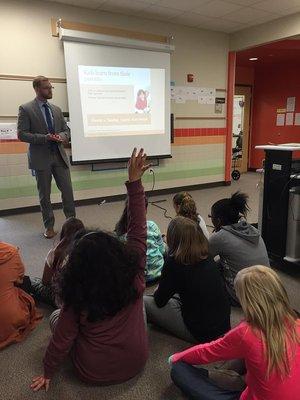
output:
{"label": "child with dark tied-up hair wearing a gray hooded sweatshirt", "polygon": [[217,201],[211,208],[215,232],[209,238],[209,253],[219,256],[219,266],[232,305],[238,305],[233,282],[236,274],[251,265],[269,266],[269,258],[260,232],[246,221],[248,196],[236,192]]}

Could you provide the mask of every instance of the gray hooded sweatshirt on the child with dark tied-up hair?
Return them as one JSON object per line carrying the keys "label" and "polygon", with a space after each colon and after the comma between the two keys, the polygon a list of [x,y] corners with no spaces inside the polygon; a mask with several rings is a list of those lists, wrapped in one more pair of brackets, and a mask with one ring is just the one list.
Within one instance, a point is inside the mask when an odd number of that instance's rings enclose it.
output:
{"label": "gray hooded sweatshirt on the child with dark tied-up hair", "polygon": [[218,232],[213,233],[209,238],[209,253],[212,257],[220,256],[226,288],[235,301],[238,301],[233,287],[236,274],[252,265],[270,265],[259,231],[246,221],[222,226]]}

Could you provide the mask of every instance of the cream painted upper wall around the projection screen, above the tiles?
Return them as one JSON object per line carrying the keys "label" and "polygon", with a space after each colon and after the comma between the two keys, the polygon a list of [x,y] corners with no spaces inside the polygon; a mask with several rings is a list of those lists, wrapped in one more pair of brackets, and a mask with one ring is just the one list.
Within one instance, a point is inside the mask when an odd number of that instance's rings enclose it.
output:
{"label": "cream painted upper wall around the projection screen, above the tiles", "polygon": [[[51,36],[51,17],[173,35],[176,50],[171,59],[171,79],[177,85],[183,85],[186,83],[186,74],[193,73],[195,85],[226,88],[227,34],[44,1],[12,0],[0,3],[0,74],[65,77],[62,43]],[[65,87],[63,84],[55,86],[58,94],[55,91],[53,100],[65,108]],[[16,96],[17,87],[20,88],[19,96]],[[5,104],[0,102],[0,116],[15,115],[17,105],[23,102],[25,95],[29,96],[28,88],[28,83],[2,82],[0,89],[7,90],[11,95]],[[199,116],[211,114],[213,107],[199,107],[196,102],[190,102],[174,105],[173,111],[180,116]]]}

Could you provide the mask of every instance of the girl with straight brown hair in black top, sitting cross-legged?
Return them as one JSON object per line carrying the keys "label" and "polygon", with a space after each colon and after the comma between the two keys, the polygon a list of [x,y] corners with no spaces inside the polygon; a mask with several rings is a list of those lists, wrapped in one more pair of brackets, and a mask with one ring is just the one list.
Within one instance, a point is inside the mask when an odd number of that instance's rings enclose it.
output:
{"label": "girl with straight brown hair in black top, sitting cross-legged", "polygon": [[230,305],[199,224],[176,217],[168,227],[168,256],[154,296],[144,296],[148,322],[195,343],[230,329]]}

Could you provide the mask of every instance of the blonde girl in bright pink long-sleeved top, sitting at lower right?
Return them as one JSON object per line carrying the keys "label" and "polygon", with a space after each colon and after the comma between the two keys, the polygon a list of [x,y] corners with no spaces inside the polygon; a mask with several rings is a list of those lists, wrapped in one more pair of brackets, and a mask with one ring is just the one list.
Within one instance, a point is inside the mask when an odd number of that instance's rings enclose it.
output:
{"label": "blonde girl in bright pink long-sleeved top, sitting at lower right", "polygon": [[[245,321],[214,342],[170,357],[171,377],[189,399],[296,400],[300,393],[300,321],[278,275],[268,267],[241,270],[234,282]],[[242,360],[243,391],[224,389],[193,365]],[[230,384],[232,375],[227,371]]]}

